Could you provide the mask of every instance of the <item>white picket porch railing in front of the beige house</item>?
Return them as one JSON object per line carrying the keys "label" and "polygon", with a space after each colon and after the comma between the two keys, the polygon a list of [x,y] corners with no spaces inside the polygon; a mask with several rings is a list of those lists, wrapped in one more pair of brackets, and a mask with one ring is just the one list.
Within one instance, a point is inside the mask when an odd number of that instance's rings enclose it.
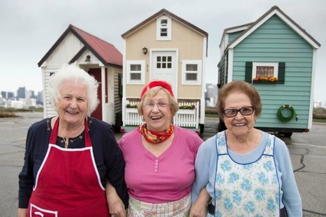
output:
{"label": "white picket porch railing in front of the beige house", "polygon": [[[128,102],[130,105],[137,105],[138,102]],[[198,128],[199,126],[199,102],[196,103],[186,103],[181,102],[179,106],[182,105],[194,105],[193,110],[179,110],[173,119],[175,125],[184,128]],[[126,116],[124,119],[124,126],[138,126],[142,124],[142,116],[138,114],[136,108],[126,107]]]}

